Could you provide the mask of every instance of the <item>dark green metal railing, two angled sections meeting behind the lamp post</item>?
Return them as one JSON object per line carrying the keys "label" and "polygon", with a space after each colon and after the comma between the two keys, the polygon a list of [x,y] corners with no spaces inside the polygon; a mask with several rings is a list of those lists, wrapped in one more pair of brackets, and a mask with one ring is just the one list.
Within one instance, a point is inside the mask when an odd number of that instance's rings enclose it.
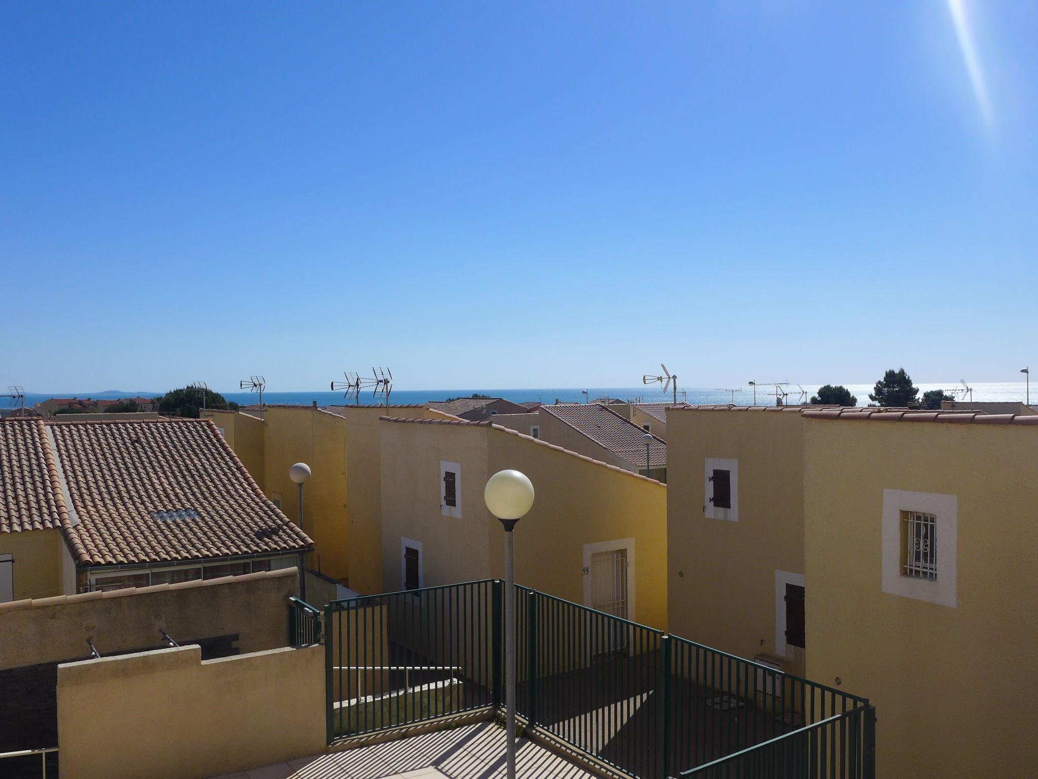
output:
{"label": "dark green metal railing, two angled sections meeting behind the lamp post", "polygon": [[[497,580],[328,603],[329,743],[500,707],[502,603]],[[636,779],[875,776],[865,698],[525,587],[515,627],[517,714]]]}

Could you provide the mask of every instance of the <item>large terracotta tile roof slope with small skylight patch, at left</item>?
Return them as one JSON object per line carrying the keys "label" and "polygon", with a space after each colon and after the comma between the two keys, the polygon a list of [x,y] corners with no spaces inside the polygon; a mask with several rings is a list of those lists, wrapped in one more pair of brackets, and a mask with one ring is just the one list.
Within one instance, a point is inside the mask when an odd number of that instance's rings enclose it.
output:
{"label": "large terracotta tile roof slope with small skylight patch, at left", "polygon": [[81,565],[299,552],[309,538],[268,501],[212,420],[52,422]]}

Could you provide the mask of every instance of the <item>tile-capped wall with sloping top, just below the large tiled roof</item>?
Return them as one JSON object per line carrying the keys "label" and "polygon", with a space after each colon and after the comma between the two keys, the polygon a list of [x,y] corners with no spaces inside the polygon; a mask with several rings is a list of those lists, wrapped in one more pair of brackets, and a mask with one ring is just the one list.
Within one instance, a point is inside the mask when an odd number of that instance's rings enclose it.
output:
{"label": "tile-capped wall with sloping top, just below the large tiled roof", "polygon": [[295,568],[208,582],[90,592],[0,605],[0,668],[238,634],[242,652],[288,644]]}

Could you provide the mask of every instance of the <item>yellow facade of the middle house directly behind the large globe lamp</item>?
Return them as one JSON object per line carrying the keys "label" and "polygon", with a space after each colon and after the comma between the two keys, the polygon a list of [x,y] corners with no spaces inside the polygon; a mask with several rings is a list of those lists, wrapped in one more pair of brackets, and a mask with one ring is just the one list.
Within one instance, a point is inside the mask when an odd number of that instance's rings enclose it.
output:
{"label": "yellow facade of the middle house directly behind the large globe lamp", "polygon": [[[591,557],[623,549],[628,618],[666,627],[666,487],[496,427],[383,422],[382,535],[387,590],[403,586],[403,548],[420,546],[426,587],[503,575],[503,533],[483,489],[526,474],[537,498],[515,531],[516,579],[591,606]],[[441,464],[459,466],[461,516],[444,514]]]}

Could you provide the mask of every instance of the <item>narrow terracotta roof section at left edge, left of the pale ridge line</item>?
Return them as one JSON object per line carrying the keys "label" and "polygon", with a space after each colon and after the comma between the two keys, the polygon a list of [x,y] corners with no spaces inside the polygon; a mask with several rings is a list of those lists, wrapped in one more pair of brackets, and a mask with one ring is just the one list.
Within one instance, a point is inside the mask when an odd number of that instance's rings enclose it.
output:
{"label": "narrow terracotta roof section at left edge, left of the pale ridge line", "polygon": [[0,533],[60,528],[60,492],[43,421],[0,422]]}

